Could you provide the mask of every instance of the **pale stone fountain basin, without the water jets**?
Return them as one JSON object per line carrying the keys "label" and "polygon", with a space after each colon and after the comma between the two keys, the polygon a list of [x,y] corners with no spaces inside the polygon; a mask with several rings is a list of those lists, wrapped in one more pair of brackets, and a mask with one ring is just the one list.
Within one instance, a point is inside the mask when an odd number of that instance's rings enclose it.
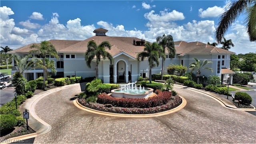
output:
{"label": "pale stone fountain basin, without the water jets", "polygon": [[125,92],[121,89],[114,89],[111,90],[111,95],[116,98],[148,98],[148,96],[153,94],[152,88],[145,88],[144,90],[140,91],[128,91]]}

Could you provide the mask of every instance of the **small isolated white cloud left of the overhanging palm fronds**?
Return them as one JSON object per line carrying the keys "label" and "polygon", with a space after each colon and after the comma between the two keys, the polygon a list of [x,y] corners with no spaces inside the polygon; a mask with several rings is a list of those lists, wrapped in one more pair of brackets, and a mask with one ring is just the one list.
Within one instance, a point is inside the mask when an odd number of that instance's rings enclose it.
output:
{"label": "small isolated white cloud left of the overhanging palm fronds", "polygon": [[224,8],[221,8],[218,6],[207,8],[206,10],[203,10],[202,8],[200,8],[198,12],[199,12],[200,18],[217,17],[224,12]]}

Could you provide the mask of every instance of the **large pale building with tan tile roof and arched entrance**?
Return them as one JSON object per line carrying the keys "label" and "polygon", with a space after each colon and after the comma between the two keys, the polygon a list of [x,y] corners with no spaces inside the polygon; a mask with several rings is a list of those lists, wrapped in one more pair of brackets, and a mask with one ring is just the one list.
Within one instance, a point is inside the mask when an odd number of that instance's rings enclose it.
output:
{"label": "large pale building with tan tile roof and arched entrance", "polygon": [[[118,37],[118,36],[106,36],[106,32],[103,28],[94,30],[95,36],[92,36],[86,40],[49,40],[49,42],[56,48],[59,60],[54,57],[46,56],[50,60],[55,61],[57,73],[54,75],[62,77],[82,76],[82,78],[94,77],[95,61],[92,61],[91,68],[88,68],[84,59],[84,53],[87,50],[87,44],[89,41],[94,40],[97,44],[103,41],[108,41],[111,44],[111,50],[106,49],[113,58],[114,61],[110,64],[110,61],[106,58],[101,60],[99,64],[99,78],[104,83],[118,83],[123,82],[135,82],[139,76],[149,76],[148,60],[139,62],[137,60],[137,54],[144,50],[144,45],[147,42],[144,39],[135,37]],[[39,44],[39,43],[38,43]],[[206,77],[210,75],[219,76],[222,83],[232,84],[232,74],[234,72],[229,69],[230,67],[230,55],[234,52],[217,48],[202,42],[174,42],[176,55],[172,60],[168,56],[166,50],[166,60],[164,62],[164,71],[170,64],[181,64],[189,67],[189,64],[195,62],[193,58],[198,60],[208,60],[211,64],[206,67],[211,67],[214,72],[210,70],[202,70],[201,76]],[[8,54],[18,54],[21,56],[27,55],[32,44],[28,44],[16,50],[8,52]],[[34,57],[40,58],[38,54],[33,54]],[[160,58],[162,61],[162,58]],[[152,69],[152,74],[161,73],[161,64],[158,67]],[[12,60],[12,71],[14,74],[16,71],[15,61]],[[50,71],[49,71],[50,72]],[[35,80],[42,76],[42,69],[29,70],[24,74],[27,80]]]}

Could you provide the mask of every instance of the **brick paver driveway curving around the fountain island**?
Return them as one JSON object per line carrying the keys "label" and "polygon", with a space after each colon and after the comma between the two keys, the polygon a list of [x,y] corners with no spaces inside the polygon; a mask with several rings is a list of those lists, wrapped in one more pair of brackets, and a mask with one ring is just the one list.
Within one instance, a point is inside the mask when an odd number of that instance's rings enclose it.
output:
{"label": "brick paver driveway curving around the fountain island", "polygon": [[[72,98],[79,85],[54,92],[36,104],[52,126],[34,143],[256,143],[256,116],[224,108],[216,100],[174,87],[187,100],[178,112],[153,118],[120,118],[80,110]],[[71,99],[71,100],[70,100]]]}

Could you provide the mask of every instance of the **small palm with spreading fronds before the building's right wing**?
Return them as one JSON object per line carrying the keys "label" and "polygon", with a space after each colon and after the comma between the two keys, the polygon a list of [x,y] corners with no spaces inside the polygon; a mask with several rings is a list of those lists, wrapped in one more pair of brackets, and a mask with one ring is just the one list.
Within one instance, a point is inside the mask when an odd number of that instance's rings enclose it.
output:
{"label": "small palm with spreading fronds before the building's right wing", "polygon": [[201,74],[201,70],[212,70],[212,68],[204,68],[205,65],[210,64],[212,62],[208,62],[208,60],[204,60],[204,61],[200,61],[197,58],[193,58],[196,62],[192,62],[191,64],[189,64],[189,68],[191,71],[196,71],[197,74],[197,83],[199,83],[199,77]]}

